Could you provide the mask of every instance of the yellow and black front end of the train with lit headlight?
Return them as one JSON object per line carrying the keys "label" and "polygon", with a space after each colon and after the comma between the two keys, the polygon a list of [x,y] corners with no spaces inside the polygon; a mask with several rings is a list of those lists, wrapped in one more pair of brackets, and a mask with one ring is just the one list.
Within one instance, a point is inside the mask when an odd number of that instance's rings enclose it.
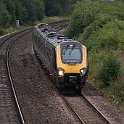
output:
{"label": "yellow and black front end of the train with lit headlight", "polygon": [[87,73],[87,49],[78,42],[65,42],[56,48],[58,87],[84,87]]}

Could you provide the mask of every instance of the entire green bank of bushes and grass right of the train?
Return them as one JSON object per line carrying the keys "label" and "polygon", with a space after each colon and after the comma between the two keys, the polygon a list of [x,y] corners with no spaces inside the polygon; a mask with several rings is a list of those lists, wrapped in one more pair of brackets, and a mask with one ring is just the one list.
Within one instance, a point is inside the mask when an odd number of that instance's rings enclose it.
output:
{"label": "entire green bank of bushes and grass right of the train", "polygon": [[89,84],[124,110],[124,1],[83,0],[66,35],[88,47]]}

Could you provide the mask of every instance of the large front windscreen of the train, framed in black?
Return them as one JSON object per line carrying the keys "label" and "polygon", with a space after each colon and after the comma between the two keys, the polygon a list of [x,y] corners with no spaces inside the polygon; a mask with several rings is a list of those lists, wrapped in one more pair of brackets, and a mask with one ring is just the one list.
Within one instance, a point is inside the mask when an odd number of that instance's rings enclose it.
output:
{"label": "large front windscreen of the train, framed in black", "polygon": [[63,48],[62,49],[62,62],[63,63],[81,63],[82,62],[82,53],[80,48]]}

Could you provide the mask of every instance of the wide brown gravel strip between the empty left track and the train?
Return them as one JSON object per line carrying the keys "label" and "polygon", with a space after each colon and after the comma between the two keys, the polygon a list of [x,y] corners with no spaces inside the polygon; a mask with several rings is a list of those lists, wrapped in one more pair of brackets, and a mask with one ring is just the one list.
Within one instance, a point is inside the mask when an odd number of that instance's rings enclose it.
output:
{"label": "wide brown gravel strip between the empty left track and the train", "polygon": [[32,33],[23,36],[10,53],[11,74],[26,124],[78,124],[35,58],[32,41]]}

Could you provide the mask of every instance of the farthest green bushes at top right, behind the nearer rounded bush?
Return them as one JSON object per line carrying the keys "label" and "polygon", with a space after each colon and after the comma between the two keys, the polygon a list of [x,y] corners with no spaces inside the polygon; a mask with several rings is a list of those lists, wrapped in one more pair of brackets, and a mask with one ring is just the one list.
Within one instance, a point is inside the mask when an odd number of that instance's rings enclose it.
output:
{"label": "farthest green bushes at top right, behind the nearer rounded bush", "polygon": [[[106,2],[102,0],[79,2],[71,16],[71,26],[68,29],[69,36],[79,36],[91,23],[103,18],[124,20],[124,3]],[[96,22],[96,25],[106,23],[106,20]]]}

